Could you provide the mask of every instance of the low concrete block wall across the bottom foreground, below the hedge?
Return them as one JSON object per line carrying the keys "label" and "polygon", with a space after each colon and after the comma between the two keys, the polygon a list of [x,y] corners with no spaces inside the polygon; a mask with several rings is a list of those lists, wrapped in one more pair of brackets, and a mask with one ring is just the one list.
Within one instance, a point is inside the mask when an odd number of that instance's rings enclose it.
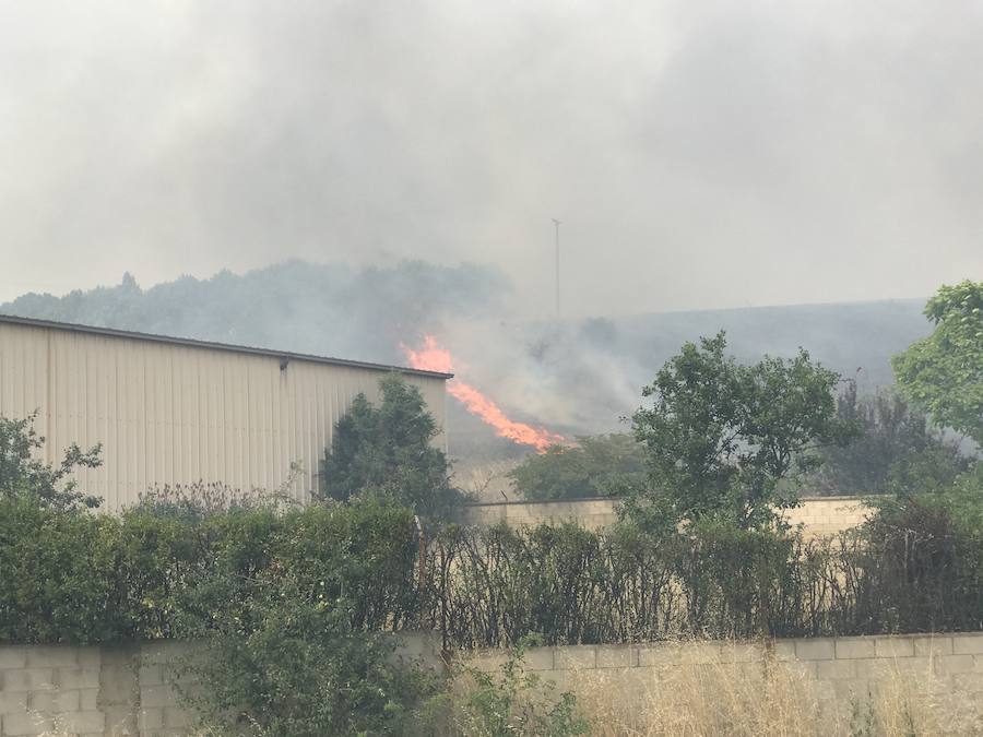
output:
{"label": "low concrete block wall across the bottom foreground, below the hedge", "polygon": [[[170,668],[191,647],[0,645],[0,736],[194,734],[194,715],[180,705]],[[410,638],[402,654],[436,662],[436,641]],[[493,670],[505,658],[501,651],[483,651],[473,664]],[[660,685],[672,688],[672,679],[687,669],[702,673],[721,665],[735,680],[751,685],[767,678],[769,668],[790,668],[812,689],[820,712],[840,715],[853,699],[900,678],[915,696],[931,694],[938,709],[958,715],[958,724],[945,723],[952,727],[949,734],[976,734],[960,730],[967,724],[983,734],[983,632],[535,647],[525,663],[558,688],[601,693],[627,710],[641,708]]]}

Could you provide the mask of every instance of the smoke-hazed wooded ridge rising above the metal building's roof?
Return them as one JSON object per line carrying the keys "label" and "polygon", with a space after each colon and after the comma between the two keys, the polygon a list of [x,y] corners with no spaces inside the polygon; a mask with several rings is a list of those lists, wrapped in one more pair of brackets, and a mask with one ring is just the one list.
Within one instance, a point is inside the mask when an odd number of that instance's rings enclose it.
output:
{"label": "smoke-hazed wooded ridge rising above the metal building's roof", "polygon": [[509,289],[501,272],[475,264],[286,261],[146,289],[127,274],[118,285],[63,297],[24,295],[0,306],[0,313],[398,362],[406,335],[446,317],[494,313]]}

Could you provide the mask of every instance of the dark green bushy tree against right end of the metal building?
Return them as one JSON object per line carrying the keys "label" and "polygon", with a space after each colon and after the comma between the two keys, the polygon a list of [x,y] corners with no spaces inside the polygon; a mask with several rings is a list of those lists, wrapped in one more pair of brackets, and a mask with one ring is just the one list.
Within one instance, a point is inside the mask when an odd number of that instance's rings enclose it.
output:
{"label": "dark green bushy tree against right end of the metal building", "polygon": [[396,375],[379,382],[378,407],[359,394],[334,426],[321,461],[322,498],[347,502],[376,498],[413,509],[425,519],[447,515],[458,499],[447,455],[431,444],[439,432],[415,387]]}

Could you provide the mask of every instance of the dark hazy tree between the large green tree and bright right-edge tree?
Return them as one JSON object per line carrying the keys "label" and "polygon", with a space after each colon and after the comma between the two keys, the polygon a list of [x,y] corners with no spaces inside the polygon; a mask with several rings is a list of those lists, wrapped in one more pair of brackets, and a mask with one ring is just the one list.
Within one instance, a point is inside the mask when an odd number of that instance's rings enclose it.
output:
{"label": "dark hazy tree between the large green tree and bright right-edge tree", "polygon": [[837,414],[858,425],[862,433],[848,445],[819,451],[822,465],[804,479],[813,494],[931,491],[951,486],[971,465],[958,441],[933,429],[925,415],[893,391],[857,396],[856,384],[849,382]]}

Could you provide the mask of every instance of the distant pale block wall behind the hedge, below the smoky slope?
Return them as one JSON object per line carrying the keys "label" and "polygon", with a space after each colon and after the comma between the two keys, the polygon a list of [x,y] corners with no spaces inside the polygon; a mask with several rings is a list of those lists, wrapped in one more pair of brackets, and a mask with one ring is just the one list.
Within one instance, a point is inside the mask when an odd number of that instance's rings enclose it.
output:
{"label": "distant pale block wall behind the hedge, below the smoky slope", "polygon": [[[512,526],[576,522],[587,530],[601,530],[617,521],[616,499],[581,499],[577,501],[517,501],[469,504],[463,521],[471,524]],[[792,524],[802,524],[806,536],[834,535],[864,522],[869,509],[858,497],[821,497],[804,499],[801,507],[783,514]]]}

